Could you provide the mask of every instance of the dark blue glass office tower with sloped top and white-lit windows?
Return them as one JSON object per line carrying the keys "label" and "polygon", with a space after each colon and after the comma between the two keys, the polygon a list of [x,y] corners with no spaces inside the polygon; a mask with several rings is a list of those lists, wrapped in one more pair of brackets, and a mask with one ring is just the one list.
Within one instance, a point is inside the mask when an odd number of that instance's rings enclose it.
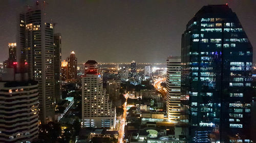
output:
{"label": "dark blue glass office tower with sloped top and white-lit windows", "polygon": [[252,46],[228,5],[204,6],[189,20],[181,66],[189,142],[251,142]]}

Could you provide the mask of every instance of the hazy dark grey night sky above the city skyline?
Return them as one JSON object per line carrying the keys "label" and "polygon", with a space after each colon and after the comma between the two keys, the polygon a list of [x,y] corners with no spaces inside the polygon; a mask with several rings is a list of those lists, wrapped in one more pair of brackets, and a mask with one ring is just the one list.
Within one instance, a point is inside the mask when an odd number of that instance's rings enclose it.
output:
{"label": "hazy dark grey night sky above the city skyline", "polygon": [[[35,2],[1,0],[0,61],[8,58],[8,42],[16,40],[16,13]],[[74,50],[78,62],[93,59],[164,63],[167,56],[180,55],[186,23],[208,4],[228,3],[256,47],[256,1],[253,0],[48,0],[47,3],[47,14],[57,23],[55,33],[62,35],[62,59]]]}

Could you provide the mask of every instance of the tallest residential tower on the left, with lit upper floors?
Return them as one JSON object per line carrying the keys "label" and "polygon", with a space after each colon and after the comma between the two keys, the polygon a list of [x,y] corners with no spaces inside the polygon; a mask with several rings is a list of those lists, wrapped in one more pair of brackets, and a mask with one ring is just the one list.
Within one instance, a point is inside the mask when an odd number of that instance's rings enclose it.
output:
{"label": "tallest residential tower on the left, with lit upper floors", "polygon": [[53,23],[45,12],[45,2],[36,2],[17,18],[17,69],[28,65],[30,79],[38,81],[39,119],[54,121]]}

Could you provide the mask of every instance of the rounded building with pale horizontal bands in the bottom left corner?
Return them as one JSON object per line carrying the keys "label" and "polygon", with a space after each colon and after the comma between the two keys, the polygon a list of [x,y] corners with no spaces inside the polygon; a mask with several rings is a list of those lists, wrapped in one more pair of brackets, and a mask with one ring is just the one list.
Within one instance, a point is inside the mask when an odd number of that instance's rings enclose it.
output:
{"label": "rounded building with pale horizontal bands in the bottom left corner", "polygon": [[32,142],[38,136],[38,84],[16,69],[0,69],[0,142]]}

